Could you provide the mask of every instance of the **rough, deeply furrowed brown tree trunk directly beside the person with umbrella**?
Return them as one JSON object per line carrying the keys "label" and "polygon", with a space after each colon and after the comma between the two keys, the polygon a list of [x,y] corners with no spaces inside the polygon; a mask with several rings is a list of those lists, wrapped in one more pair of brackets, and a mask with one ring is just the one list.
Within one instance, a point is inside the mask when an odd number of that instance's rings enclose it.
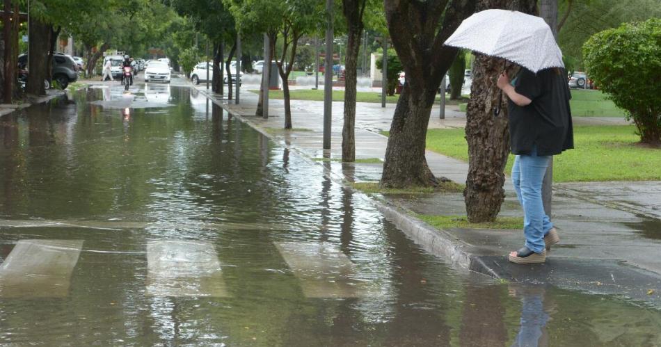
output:
{"label": "rough, deeply furrowed brown tree trunk directly beside the person with umbrella", "polygon": [[[534,13],[536,0],[480,0],[477,10],[489,8],[514,9]],[[507,97],[496,86],[497,76],[505,61],[481,54],[475,55],[472,69],[470,100],[466,108],[466,141],[468,142],[468,177],[463,191],[470,223],[495,220],[504,201],[504,168],[509,155]],[[513,76],[516,67],[507,64]],[[499,99],[499,97],[501,97]],[[502,103],[500,115],[493,108]]]}

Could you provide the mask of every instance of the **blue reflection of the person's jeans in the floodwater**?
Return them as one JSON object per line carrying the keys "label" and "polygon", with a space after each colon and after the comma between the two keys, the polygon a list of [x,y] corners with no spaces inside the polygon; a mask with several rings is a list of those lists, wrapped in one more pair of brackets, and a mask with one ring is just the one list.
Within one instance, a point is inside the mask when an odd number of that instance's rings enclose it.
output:
{"label": "blue reflection of the person's jeans in the floodwater", "polygon": [[546,323],[550,315],[544,307],[544,287],[511,284],[509,292],[523,303],[520,330],[512,346],[548,346]]}

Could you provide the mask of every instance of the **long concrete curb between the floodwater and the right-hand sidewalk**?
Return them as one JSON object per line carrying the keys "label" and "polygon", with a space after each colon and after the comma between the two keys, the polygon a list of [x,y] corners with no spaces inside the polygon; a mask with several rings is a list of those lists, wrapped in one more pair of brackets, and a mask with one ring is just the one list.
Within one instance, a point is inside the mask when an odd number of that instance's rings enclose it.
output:
{"label": "long concrete curb between the floodwater and the right-hand sidewalk", "polygon": [[[191,88],[195,87],[191,86]],[[260,132],[260,134],[266,136],[267,138],[275,138],[273,134],[269,134],[268,132],[264,131],[264,129],[262,129],[254,122],[251,122],[238,113],[232,111],[232,109],[227,104],[214,99],[214,97],[209,95],[206,90],[198,91],[202,92],[202,94],[214,102],[214,104],[221,106],[221,108],[232,115],[232,117],[248,124],[250,127]],[[301,154],[301,156],[304,158],[309,159],[306,154],[296,150],[296,148],[292,147],[291,145],[288,145],[287,143],[282,143],[282,145],[287,147],[289,150],[293,150],[296,153]],[[318,161],[309,161],[316,165],[320,165]],[[326,175],[328,175],[330,179],[334,178],[334,174],[333,172],[330,172],[330,170],[326,171]],[[345,184],[344,177],[337,177],[337,179],[333,180],[338,184],[342,184],[342,186],[346,189],[351,189],[351,191],[354,191],[355,193],[365,195],[368,200],[372,202],[376,208],[381,211],[381,213],[383,213],[383,216],[387,220],[395,224],[397,228],[401,229],[405,234],[411,237],[415,243],[421,245],[424,250],[427,250],[427,252],[431,253],[432,255],[436,255],[444,259],[448,264],[457,270],[480,273],[482,275],[488,275],[497,279],[501,278],[497,271],[487,266],[480,257],[473,255],[470,252],[470,245],[457,239],[446,230],[436,229],[435,227],[431,227],[431,225],[424,223],[422,220],[411,216],[411,211],[408,211],[408,209],[397,207],[388,201],[380,199],[379,197],[375,197],[374,195],[368,195],[362,191],[357,191],[351,186]]]}

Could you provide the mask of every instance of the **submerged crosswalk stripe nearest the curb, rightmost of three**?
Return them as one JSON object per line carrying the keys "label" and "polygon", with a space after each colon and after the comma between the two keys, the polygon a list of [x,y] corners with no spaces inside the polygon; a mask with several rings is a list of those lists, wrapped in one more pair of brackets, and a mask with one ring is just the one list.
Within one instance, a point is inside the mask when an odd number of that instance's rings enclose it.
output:
{"label": "submerged crosswalk stripe nearest the curb, rightmost of three", "polygon": [[307,298],[359,298],[367,291],[356,280],[353,264],[330,243],[273,243]]}

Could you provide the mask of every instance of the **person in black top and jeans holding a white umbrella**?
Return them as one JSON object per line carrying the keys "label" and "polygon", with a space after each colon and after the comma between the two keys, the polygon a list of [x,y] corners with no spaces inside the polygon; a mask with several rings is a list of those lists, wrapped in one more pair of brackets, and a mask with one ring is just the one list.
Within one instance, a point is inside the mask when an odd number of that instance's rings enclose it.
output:
{"label": "person in black top and jeans holding a white umbrella", "polygon": [[[543,263],[559,236],[544,212],[542,181],[551,157],[573,148],[571,95],[562,52],[543,19],[510,10],[475,13],[445,45],[504,58],[521,67],[513,81],[504,73],[497,80],[497,87],[509,97],[510,149],[516,155],[512,183],[524,213],[525,243],[509,253],[509,261]],[[500,105],[494,116],[499,113]]]}

